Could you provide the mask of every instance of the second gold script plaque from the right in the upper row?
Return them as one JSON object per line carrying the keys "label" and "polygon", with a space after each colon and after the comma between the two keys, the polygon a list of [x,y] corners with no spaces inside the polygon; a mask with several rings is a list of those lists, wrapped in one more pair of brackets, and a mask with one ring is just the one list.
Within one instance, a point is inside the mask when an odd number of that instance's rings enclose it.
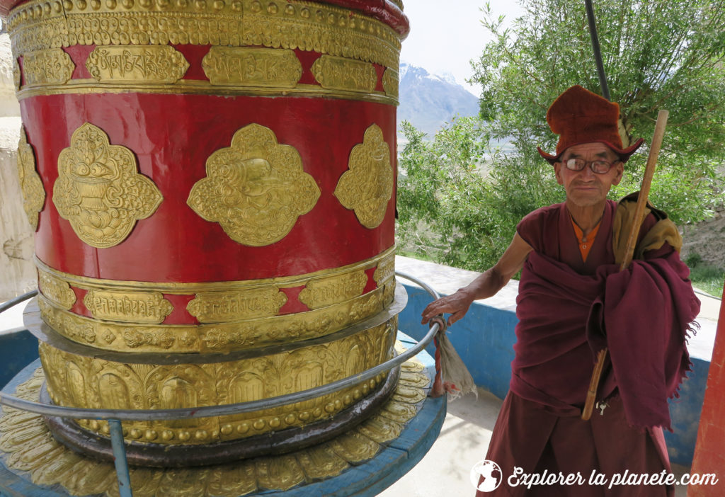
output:
{"label": "second gold script plaque from the right in the upper row", "polygon": [[378,73],[373,64],[359,60],[322,55],[312,64],[312,75],[323,88],[344,91],[373,91]]}

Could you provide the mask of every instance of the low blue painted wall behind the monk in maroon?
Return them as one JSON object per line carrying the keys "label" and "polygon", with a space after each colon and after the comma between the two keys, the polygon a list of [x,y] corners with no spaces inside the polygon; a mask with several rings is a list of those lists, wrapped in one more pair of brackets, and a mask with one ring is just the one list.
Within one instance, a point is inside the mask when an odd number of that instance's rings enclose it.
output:
{"label": "low blue painted wall behind the monk in maroon", "polygon": [[[405,285],[405,289],[408,304],[399,315],[398,327],[403,333],[420,340],[427,331],[427,327],[421,326],[421,312],[431,301],[431,296],[412,285]],[[448,335],[476,385],[499,398],[508,393],[517,322],[514,312],[474,303]],[[428,353],[433,355],[431,347],[428,347]],[[692,464],[695,454],[697,426],[710,367],[710,363],[702,359],[693,359],[692,362],[692,372],[680,388],[680,397],[670,401],[674,433],[665,432],[671,462],[685,466]]]}

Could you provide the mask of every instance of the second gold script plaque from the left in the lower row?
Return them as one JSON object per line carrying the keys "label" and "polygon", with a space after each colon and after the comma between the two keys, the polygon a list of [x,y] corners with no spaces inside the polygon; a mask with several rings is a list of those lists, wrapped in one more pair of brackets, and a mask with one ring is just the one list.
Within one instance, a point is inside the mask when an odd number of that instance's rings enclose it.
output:
{"label": "second gold script plaque from the left in the lower row", "polygon": [[174,306],[159,292],[112,292],[91,290],[83,298],[96,319],[159,324]]}

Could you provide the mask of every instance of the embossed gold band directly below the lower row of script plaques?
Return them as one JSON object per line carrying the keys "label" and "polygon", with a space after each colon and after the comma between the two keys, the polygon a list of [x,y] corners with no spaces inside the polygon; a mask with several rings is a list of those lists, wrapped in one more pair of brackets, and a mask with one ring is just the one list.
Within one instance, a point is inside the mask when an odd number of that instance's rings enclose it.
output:
{"label": "embossed gold band directly below the lower row of script plaques", "polygon": [[73,314],[38,296],[41,317],[65,338],[117,352],[231,352],[329,335],[382,312],[395,283],[348,301],[297,314],[208,325],[124,324]]}

